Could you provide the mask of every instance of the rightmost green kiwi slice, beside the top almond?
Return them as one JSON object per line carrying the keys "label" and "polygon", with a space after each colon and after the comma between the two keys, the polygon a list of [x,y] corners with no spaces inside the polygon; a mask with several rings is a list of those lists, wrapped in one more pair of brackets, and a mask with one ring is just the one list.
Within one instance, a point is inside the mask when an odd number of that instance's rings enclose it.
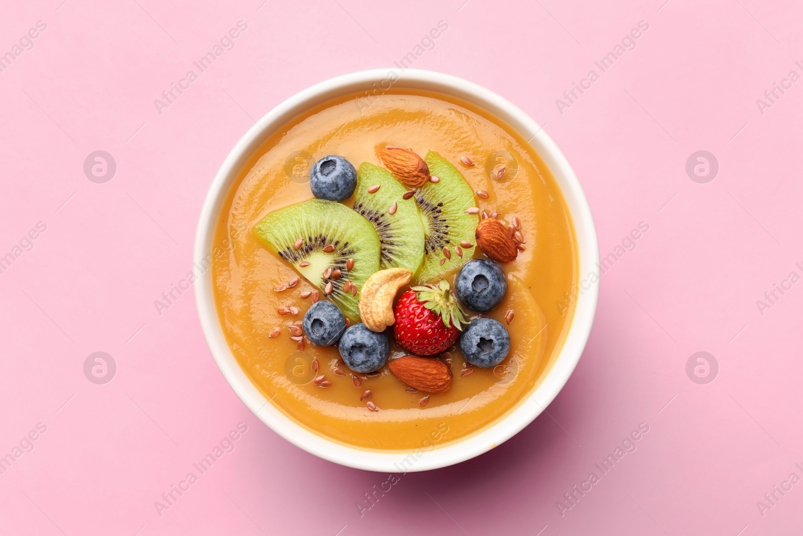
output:
{"label": "rightmost green kiwi slice, beside the top almond", "polygon": [[[460,257],[454,247],[459,246],[461,240],[475,243],[474,231],[479,223],[478,215],[466,214],[466,209],[476,204],[474,191],[463,175],[432,151],[427,153],[425,161],[430,174],[441,180],[426,182],[415,194],[424,224],[424,263],[414,277],[419,284],[471,260],[471,250]],[[443,248],[450,250],[450,259],[443,254]],[[441,264],[443,259],[446,261]]]}

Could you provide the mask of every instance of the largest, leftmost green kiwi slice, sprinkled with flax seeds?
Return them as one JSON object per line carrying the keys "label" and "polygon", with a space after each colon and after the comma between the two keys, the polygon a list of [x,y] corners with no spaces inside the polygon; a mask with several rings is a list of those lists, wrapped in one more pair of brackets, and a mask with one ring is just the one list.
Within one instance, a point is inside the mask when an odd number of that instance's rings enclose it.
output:
{"label": "largest, leftmost green kiwi slice, sprinkled with flax seeds", "polygon": [[[346,317],[360,320],[359,293],[344,293],[343,284],[352,281],[359,290],[379,270],[379,237],[367,219],[340,203],[310,199],[271,212],[256,224],[254,231],[271,252],[319,288],[321,297],[326,285],[332,283],[332,293],[326,298]],[[332,251],[325,251],[328,249]],[[354,260],[351,270],[346,269],[349,259]],[[327,268],[340,270],[340,277],[324,279]]]}

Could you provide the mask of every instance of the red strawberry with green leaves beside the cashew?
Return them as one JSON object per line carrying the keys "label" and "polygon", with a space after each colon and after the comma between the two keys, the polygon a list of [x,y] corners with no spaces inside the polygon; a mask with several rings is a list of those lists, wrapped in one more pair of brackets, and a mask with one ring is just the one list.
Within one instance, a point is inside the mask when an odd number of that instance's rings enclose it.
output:
{"label": "red strawberry with green leaves beside the cashew", "polygon": [[440,354],[452,346],[466,323],[463,309],[445,279],[413,287],[402,294],[393,311],[393,335],[405,350],[418,355]]}

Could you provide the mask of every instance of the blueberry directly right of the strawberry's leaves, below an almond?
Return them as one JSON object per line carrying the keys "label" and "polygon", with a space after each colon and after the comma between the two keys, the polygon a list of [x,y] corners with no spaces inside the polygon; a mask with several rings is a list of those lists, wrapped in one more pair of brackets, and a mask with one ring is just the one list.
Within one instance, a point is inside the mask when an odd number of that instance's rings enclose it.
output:
{"label": "blueberry directly right of the strawberry's leaves, below an almond", "polygon": [[463,305],[484,313],[502,303],[507,294],[507,278],[494,261],[475,259],[463,266],[454,287]]}

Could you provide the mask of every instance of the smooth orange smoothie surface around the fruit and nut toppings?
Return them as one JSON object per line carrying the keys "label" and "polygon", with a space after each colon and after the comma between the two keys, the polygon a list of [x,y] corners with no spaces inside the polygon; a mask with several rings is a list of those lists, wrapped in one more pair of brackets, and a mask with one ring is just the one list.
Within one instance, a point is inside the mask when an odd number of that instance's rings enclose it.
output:
{"label": "smooth orange smoothie surface around the fruit and nut toppings", "polygon": [[[437,432],[438,444],[448,444],[487,428],[524,402],[556,359],[571,322],[568,297],[577,281],[572,219],[535,149],[482,109],[414,90],[391,90],[367,107],[365,101],[357,106],[355,97],[320,105],[270,133],[240,171],[214,237],[214,244],[233,243],[213,260],[218,317],[234,357],[265,399],[312,432],[382,451],[420,448],[422,440],[434,437],[432,432]],[[312,305],[303,296],[316,288],[254,232],[267,214],[312,199],[309,170],[319,158],[336,154],[355,168],[362,162],[382,166],[378,151],[385,146],[419,155],[438,153],[471,190],[483,193],[475,198],[475,207],[499,213],[503,223],[514,216],[520,220],[523,251],[501,264],[507,295],[481,315],[507,328],[510,352],[487,369],[469,366],[459,345],[435,356],[450,366],[453,376],[443,393],[411,392],[388,365],[375,373],[353,372],[343,365],[336,346],[313,346],[303,336],[301,341],[298,336],[291,339],[291,326],[300,325]],[[497,180],[501,166],[505,173]],[[342,203],[351,209],[354,198]],[[485,258],[479,247],[464,255]],[[453,288],[456,272],[445,276]],[[275,290],[294,278],[299,282],[291,288]],[[320,298],[325,299],[324,293]],[[469,320],[480,316],[466,313]],[[389,362],[409,354],[393,342],[392,327],[387,333]],[[313,383],[320,374],[331,384],[322,388]],[[377,411],[361,399],[366,390]]]}

